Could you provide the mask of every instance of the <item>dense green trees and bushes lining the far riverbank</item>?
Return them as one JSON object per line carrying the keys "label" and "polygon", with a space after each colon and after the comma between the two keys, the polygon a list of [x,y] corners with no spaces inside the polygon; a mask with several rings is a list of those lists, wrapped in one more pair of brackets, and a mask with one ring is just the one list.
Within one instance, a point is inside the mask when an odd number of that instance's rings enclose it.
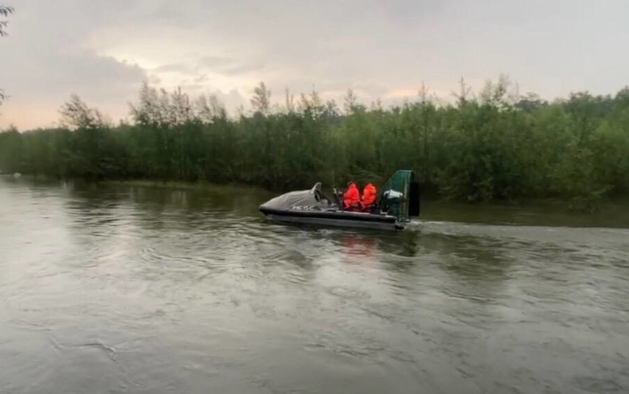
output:
{"label": "dense green trees and bushes lining the far riverbank", "polygon": [[[111,125],[73,96],[59,129],[0,133],[0,169],[102,179],[247,182],[269,188],[382,182],[415,169],[424,190],[458,200],[629,194],[629,88],[547,102],[504,78],[452,104],[344,109],[316,92],[273,108],[264,84],[253,111],[230,118],[216,97],[190,100],[144,84],[131,124]],[[297,101],[297,102],[296,102]]]}

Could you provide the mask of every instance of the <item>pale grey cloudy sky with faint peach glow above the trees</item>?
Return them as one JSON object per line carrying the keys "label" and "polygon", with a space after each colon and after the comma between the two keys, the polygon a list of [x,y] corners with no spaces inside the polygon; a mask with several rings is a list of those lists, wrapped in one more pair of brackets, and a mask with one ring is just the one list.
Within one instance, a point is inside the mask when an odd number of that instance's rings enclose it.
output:
{"label": "pale grey cloudy sky with faint peach glow above the trees", "polygon": [[[54,126],[79,95],[129,119],[142,82],[250,107],[314,88],[395,104],[505,74],[552,100],[629,84],[627,0],[0,0],[0,129]],[[2,19],[0,17],[0,19]]]}

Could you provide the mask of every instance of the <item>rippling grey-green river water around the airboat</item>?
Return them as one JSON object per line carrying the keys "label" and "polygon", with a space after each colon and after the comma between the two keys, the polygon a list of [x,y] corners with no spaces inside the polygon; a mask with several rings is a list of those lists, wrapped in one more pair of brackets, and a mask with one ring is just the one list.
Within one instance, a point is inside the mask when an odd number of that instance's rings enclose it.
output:
{"label": "rippling grey-green river water around the airboat", "polygon": [[629,392],[629,229],[269,197],[1,177],[0,393]]}

